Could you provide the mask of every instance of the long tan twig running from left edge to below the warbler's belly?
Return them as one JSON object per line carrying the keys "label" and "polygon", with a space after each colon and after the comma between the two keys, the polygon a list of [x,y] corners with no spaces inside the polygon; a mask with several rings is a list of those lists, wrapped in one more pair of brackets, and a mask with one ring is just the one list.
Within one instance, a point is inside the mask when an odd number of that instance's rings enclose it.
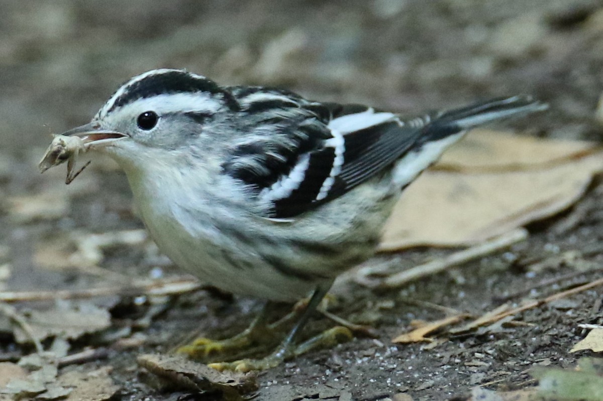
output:
{"label": "long tan twig running from left edge to below the warbler's belly", "polygon": [[163,280],[140,280],[130,285],[87,288],[85,290],[56,291],[0,291],[0,302],[19,302],[49,299],[81,299],[100,296],[136,296],[146,294],[163,296],[183,294],[202,288],[195,279],[177,278]]}

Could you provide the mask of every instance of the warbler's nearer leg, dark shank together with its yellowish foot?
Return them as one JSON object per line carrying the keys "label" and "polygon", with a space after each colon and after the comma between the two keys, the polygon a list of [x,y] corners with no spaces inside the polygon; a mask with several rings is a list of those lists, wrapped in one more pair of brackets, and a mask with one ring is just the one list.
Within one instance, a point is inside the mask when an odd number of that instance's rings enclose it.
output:
{"label": "warbler's nearer leg, dark shank together with its yellowish foot", "polygon": [[280,346],[277,347],[277,349],[271,353],[271,355],[268,355],[262,359],[240,359],[234,362],[217,362],[209,364],[209,366],[217,370],[265,370],[276,367],[283,361],[306,353],[310,350],[319,347],[332,347],[336,344],[351,340],[353,335],[350,329],[343,326],[336,326],[317,335],[316,337],[310,338],[304,343],[301,343],[297,346],[295,345],[295,338],[297,338],[298,334],[301,332],[301,329],[303,329],[303,326],[306,325],[308,319],[312,315],[312,312],[315,311],[326,293],[327,290],[323,290],[321,288],[317,288],[314,291],[311,299],[308,302],[308,306],[306,306],[306,308],[301,312],[301,316],[297,320],[297,323],[295,323],[293,329],[291,329],[289,334],[285,337],[285,340],[280,343]]}

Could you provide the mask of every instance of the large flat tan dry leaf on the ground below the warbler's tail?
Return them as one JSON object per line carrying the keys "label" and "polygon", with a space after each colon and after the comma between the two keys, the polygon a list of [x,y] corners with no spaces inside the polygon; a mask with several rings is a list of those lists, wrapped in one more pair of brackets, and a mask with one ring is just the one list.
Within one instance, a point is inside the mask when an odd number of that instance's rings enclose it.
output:
{"label": "large flat tan dry leaf on the ground below the warbler's tail", "polygon": [[403,194],[380,249],[465,246],[558,213],[603,170],[581,141],[474,130]]}

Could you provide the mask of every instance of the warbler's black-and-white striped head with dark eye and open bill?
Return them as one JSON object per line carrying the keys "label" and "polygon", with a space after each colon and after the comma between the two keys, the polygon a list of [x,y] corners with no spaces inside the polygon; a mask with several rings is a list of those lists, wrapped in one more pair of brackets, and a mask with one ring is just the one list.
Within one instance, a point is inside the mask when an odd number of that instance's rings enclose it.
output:
{"label": "warbler's black-and-white striped head with dark eye and open bill", "polygon": [[227,123],[237,108],[230,92],[204,76],[151,70],[122,85],[90,123],[63,135],[77,135],[87,148],[122,165],[168,154],[178,157],[185,150],[208,154],[212,141],[204,137],[215,134],[216,126]]}

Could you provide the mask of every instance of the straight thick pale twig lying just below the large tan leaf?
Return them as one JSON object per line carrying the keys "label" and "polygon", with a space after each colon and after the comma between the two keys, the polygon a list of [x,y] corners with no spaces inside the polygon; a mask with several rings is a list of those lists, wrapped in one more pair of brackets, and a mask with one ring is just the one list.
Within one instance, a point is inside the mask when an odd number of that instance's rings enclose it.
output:
{"label": "straight thick pale twig lying just below the large tan leaf", "polygon": [[443,272],[450,267],[458,266],[459,264],[467,263],[471,260],[490,255],[490,253],[505,249],[514,243],[525,240],[526,238],[528,238],[528,231],[525,228],[515,229],[482,244],[472,246],[464,250],[459,250],[459,252],[446,256],[446,258],[421,264],[420,266],[415,266],[412,269],[408,269],[404,272],[390,276],[385,279],[384,287],[400,287],[407,282],[415,281],[426,276],[431,276],[435,273]]}

